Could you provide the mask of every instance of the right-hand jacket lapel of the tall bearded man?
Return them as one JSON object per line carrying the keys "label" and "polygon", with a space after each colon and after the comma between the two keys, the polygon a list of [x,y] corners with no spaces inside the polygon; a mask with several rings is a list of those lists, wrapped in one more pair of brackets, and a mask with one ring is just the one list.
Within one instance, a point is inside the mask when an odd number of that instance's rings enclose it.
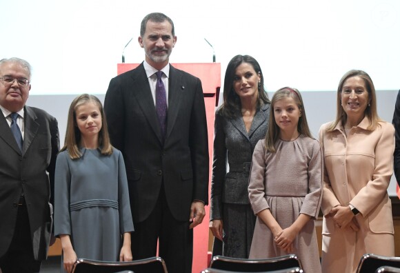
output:
{"label": "right-hand jacket lapel of the tall bearded man", "polygon": [[170,135],[172,128],[174,128],[175,121],[181,108],[181,101],[185,84],[182,81],[182,76],[179,70],[170,65],[170,79],[168,88],[168,114],[167,114],[167,132],[166,139]]}

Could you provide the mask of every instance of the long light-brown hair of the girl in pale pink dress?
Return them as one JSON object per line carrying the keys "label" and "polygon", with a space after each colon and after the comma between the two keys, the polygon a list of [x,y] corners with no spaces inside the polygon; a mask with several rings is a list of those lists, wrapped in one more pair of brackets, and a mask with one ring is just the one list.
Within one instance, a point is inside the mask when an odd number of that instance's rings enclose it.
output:
{"label": "long light-brown hair of the girl in pale pink dress", "polygon": [[301,98],[299,90],[295,88],[284,87],[277,90],[277,92],[275,92],[274,96],[272,97],[272,102],[270,107],[270,120],[268,124],[268,131],[266,134],[266,150],[268,150],[268,152],[276,151],[275,143],[279,139],[279,132],[280,132],[280,128],[275,122],[274,105],[275,103],[277,103],[277,101],[280,101],[281,99],[285,99],[288,97],[294,100],[294,102],[297,104],[297,107],[299,107],[299,110],[301,112],[299,123],[297,123],[297,131],[299,132],[299,134],[303,134],[305,136],[313,138],[310,132],[310,128],[308,128],[306,110],[304,109],[303,99]]}

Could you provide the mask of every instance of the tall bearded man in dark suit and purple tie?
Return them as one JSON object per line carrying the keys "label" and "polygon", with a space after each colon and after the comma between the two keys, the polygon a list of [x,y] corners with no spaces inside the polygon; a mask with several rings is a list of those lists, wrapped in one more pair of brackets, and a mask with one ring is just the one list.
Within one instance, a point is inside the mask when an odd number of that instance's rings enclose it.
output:
{"label": "tall bearded man in dark suit and purple tie", "polygon": [[146,60],[112,79],[105,99],[111,142],[126,163],[132,254],[134,259],[155,256],[159,239],[168,272],[191,272],[192,228],[203,221],[208,203],[201,81],[170,65],[177,37],[166,15],[148,14],[138,40]]}

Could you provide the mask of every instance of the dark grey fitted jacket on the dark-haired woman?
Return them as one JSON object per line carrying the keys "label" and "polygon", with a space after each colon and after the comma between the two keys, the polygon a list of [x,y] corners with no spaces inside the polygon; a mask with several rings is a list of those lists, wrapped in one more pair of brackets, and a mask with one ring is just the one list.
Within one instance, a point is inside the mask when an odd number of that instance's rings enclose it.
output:
{"label": "dark grey fitted jacket on the dark-haired woman", "polygon": [[[234,119],[215,114],[210,220],[222,219],[222,203],[249,204],[248,178],[257,141],[265,139],[270,104],[254,115],[250,131],[241,116]],[[228,173],[227,173],[228,170]]]}

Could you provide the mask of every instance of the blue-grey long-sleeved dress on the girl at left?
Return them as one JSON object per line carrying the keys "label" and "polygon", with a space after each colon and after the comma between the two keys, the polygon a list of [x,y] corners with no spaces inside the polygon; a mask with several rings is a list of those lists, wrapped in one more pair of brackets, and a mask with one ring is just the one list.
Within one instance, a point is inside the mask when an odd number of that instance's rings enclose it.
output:
{"label": "blue-grey long-sleeved dress on the girl at left", "polygon": [[115,148],[81,152],[57,156],[54,235],[69,234],[79,259],[119,261],[121,235],[134,230],[123,156]]}

